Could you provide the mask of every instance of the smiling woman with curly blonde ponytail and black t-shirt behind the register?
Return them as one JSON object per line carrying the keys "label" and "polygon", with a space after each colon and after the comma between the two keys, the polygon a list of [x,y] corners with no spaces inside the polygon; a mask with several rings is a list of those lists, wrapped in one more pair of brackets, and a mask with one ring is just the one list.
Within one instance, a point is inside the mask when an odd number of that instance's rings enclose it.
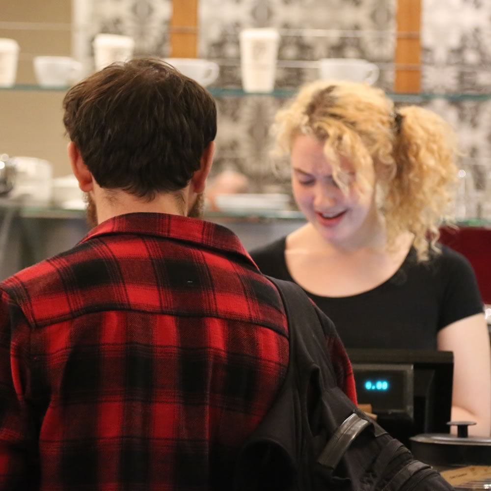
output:
{"label": "smiling woman with curly blonde ponytail and black t-shirt behind the register", "polygon": [[490,339],[475,275],[437,244],[452,199],[455,135],[435,113],[395,109],[351,82],[304,86],[276,117],[307,224],[252,251],[263,273],[298,283],[348,348],[454,352],[452,419],[489,435]]}

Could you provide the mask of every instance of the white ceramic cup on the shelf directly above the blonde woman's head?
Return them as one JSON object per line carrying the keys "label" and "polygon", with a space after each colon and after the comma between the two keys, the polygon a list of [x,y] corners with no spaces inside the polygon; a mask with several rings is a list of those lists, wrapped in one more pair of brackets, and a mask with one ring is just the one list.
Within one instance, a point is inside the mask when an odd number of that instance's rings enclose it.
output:
{"label": "white ceramic cup on the shelf directly above the blonde woman's head", "polygon": [[375,63],[357,58],[322,58],[319,60],[321,79],[377,82],[380,70]]}

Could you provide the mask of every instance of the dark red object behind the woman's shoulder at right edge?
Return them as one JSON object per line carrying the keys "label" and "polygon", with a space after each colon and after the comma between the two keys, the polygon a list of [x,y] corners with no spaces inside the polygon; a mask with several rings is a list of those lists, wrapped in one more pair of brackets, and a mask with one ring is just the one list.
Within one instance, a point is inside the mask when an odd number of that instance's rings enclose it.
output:
{"label": "dark red object behind the woman's shoulder at right edge", "polygon": [[484,303],[491,304],[491,228],[443,227],[442,244],[463,254],[476,273],[477,283]]}

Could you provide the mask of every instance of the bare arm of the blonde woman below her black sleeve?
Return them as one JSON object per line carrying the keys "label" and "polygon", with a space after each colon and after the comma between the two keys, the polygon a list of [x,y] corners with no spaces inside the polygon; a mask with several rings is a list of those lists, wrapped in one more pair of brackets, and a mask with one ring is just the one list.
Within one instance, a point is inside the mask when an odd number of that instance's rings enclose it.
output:
{"label": "bare arm of the blonde woman below her black sleeve", "polygon": [[491,349],[484,314],[476,314],[443,327],[438,349],[454,353],[452,420],[475,421],[470,435],[491,432]]}

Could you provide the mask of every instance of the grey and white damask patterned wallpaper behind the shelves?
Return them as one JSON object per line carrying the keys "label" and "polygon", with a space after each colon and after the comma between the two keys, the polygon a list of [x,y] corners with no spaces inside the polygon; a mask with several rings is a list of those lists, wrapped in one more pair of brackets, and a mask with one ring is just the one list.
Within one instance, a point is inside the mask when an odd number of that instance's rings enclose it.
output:
{"label": "grey and white damask patterned wallpaper behind the shelves", "polygon": [[[322,57],[373,61],[381,68],[377,85],[392,87],[395,0],[200,0],[199,5],[198,52],[220,64],[218,86],[241,84],[239,31],[268,26],[281,32],[279,88],[315,79],[316,60]],[[169,55],[171,9],[170,0],[92,0],[87,50],[97,32],[113,32],[132,35],[137,54]],[[490,0],[423,0],[422,44],[424,91],[491,92]],[[218,98],[215,170],[238,169],[252,177],[258,190],[281,182],[268,155],[270,125],[283,103],[265,96]],[[465,213],[491,218],[486,201],[491,203],[491,101],[436,99],[421,104],[457,130],[466,173],[462,188],[472,196]]]}

